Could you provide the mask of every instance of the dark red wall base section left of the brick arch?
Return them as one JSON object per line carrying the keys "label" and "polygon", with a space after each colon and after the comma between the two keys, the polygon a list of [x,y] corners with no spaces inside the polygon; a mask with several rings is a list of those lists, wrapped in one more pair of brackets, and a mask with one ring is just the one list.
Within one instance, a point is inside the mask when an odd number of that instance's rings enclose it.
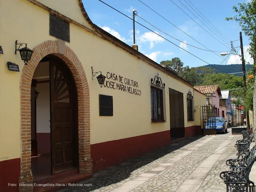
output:
{"label": "dark red wall base section left of the brick arch", "polygon": [[20,158],[0,161],[0,192],[18,192]]}

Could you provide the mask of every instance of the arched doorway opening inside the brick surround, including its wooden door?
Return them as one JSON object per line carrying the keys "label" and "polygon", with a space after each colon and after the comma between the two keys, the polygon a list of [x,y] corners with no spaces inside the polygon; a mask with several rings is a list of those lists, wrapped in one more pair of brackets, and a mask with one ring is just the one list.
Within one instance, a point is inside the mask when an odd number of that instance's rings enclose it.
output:
{"label": "arched doorway opening inside the brick surround, including its wooden door", "polygon": [[31,84],[31,170],[35,181],[78,169],[77,95],[72,73],[58,57],[38,64]]}

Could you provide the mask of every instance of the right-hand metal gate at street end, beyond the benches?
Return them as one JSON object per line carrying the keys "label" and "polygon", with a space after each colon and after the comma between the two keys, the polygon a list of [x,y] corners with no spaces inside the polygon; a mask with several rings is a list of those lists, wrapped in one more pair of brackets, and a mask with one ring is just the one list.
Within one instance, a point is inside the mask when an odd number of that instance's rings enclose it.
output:
{"label": "right-hand metal gate at street end, beyond the benches", "polygon": [[232,134],[240,134],[241,131],[246,130],[246,115],[244,113],[244,106],[231,104],[230,109]]}

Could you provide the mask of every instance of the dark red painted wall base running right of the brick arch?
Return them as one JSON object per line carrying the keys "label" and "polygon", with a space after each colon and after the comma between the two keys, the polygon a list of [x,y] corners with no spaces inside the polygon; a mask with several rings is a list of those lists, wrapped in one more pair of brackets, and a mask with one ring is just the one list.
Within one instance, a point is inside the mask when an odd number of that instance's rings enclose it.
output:
{"label": "dark red painted wall base running right of the brick arch", "polygon": [[[185,128],[186,138],[194,136],[194,126]],[[177,142],[177,140],[173,141]],[[130,158],[173,143],[170,130],[91,145],[93,172],[120,164]]]}

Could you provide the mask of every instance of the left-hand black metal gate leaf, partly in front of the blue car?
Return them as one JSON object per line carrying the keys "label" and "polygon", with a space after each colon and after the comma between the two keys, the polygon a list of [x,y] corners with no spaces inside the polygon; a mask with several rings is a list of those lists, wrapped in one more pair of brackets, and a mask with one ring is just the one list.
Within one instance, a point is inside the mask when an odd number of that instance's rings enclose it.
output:
{"label": "left-hand black metal gate leaf, partly in front of the blue car", "polygon": [[216,135],[216,108],[200,106],[201,127],[204,135]]}

